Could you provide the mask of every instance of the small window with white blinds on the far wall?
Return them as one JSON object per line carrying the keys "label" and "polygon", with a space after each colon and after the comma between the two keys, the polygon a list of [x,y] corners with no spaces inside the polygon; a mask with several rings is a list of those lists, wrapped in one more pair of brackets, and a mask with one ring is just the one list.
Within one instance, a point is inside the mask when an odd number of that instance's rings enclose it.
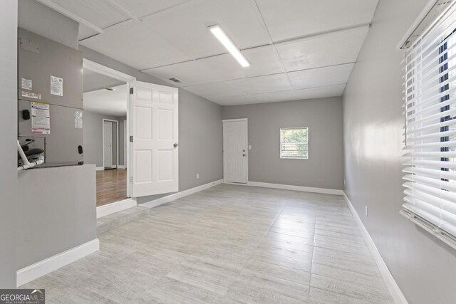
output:
{"label": "small window with white blinds on the far wall", "polygon": [[280,158],[309,158],[309,128],[286,127],[280,129]]}

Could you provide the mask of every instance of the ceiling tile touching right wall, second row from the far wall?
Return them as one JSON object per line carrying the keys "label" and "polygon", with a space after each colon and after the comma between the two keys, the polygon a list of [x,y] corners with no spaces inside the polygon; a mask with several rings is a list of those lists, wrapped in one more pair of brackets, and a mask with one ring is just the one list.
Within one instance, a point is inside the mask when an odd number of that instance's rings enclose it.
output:
{"label": "ceiling tile touching right wall, second row from the far wall", "polygon": [[326,68],[312,68],[288,73],[295,89],[316,88],[326,85],[342,85],[347,83],[354,63],[333,65]]}

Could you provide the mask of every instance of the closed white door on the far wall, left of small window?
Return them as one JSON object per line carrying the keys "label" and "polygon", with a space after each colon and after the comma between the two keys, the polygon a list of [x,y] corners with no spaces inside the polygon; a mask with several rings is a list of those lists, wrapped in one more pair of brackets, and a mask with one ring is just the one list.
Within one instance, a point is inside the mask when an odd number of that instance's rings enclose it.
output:
{"label": "closed white door on the far wall, left of small window", "polygon": [[247,183],[247,120],[223,122],[223,180]]}

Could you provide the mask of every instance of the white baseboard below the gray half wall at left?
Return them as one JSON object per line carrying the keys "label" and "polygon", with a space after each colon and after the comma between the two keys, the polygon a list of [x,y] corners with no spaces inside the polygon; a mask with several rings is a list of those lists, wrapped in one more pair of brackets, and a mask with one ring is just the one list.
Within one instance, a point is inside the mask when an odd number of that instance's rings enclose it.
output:
{"label": "white baseboard below the gray half wall at left", "polygon": [[52,271],[56,271],[58,268],[78,261],[80,258],[88,256],[90,253],[94,253],[100,249],[100,241],[94,239],[83,243],[82,245],[58,253],[55,256],[46,258],[43,261],[32,264],[31,266],[19,269],[16,273],[16,285],[17,287],[24,285],[28,282],[35,280],[41,276],[44,276]]}

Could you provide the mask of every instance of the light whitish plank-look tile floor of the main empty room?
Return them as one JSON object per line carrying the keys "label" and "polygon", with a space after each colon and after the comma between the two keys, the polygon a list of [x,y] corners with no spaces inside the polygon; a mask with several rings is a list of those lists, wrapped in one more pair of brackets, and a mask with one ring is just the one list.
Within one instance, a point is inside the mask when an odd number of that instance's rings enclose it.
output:
{"label": "light whitish plank-look tile floor of the main empty room", "polygon": [[24,285],[46,303],[393,303],[342,196],[221,184]]}

